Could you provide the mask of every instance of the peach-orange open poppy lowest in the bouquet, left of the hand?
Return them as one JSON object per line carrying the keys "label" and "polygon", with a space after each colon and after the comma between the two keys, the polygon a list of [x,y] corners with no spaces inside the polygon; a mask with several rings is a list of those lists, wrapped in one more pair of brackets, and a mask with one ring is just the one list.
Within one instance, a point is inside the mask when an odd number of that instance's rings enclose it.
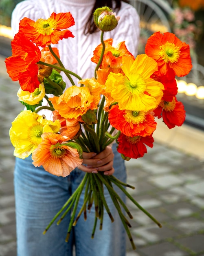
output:
{"label": "peach-orange open poppy lowest in the bouquet, left of the hand", "polygon": [[83,160],[79,158],[77,149],[64,145],[70,138],[50,132],[42,134],[41,137],[42,142],[32,154],[35,167],[42,165],[45,171],[66,177],[82,164]]}

